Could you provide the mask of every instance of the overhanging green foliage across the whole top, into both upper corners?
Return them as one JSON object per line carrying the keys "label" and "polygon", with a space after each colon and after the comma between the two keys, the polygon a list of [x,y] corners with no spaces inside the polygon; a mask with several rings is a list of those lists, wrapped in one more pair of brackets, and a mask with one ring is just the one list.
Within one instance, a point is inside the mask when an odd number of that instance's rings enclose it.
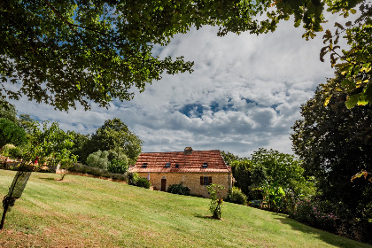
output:
{"label": "overhanging green foliage across the whole top, into both upper corners", "polygon": [[[349,105],[370,101],[371,10],[364,0],[354,1],[22,1],[0,4],[0,76],[2,97],[29,100],[67,110],[89,101],[109,105],[112,98],[130,100],[133,87],[143,90],[161,74],[191,72],[193,62],[159,58],[154,44],[167,45],[190,27],[219,26],[217,35],[274,31],[280,20],[294,17],[306,39],[322,31],[323,12],[345,18],[360,6],[360,18],[347,22],[351,50],[337,53],[337,35],[327,32],[332,66],[348,75],[343,88]],[[266,14],[266,18],[263,17]],[[350,24],[350,25],[348,25]],[[338,37],[338,36],[337,36]],[[361,81],[360,81],[361,80]],[[16,89],[14,89],[15,84]],[[354,92],[361,90],[362,92]],[[332,94],[334,89],[329,89]],[[353,97],[357,96],[357,97]],[[355,102],[352,99],[357,99]]]}

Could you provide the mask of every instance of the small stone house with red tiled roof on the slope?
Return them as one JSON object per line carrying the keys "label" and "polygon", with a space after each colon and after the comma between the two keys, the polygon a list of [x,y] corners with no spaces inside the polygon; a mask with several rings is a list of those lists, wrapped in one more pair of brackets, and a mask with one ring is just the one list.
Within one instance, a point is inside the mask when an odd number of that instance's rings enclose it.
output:
{"label": "small stone house with red tiled roof on the slope", "polygon": [[130,171],[147,178],[154,190],[167,191],[169,185],[182,183],[191,195],[204,198],[209,197],[206,186],[212,183],[224,186],[221,195],[226,197],[233,181],[231,167],[219,150],[193,151],[191,147],[184,151],[143,152]]}

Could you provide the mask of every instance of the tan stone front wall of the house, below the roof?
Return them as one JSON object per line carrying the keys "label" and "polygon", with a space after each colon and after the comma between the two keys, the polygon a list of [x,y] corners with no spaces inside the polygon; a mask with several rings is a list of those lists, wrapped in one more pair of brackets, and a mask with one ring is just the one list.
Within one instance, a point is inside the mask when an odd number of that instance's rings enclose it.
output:
{"label": "tan stone front wall of the house, below the roof", "polygon": [[[141,176],[147,178],[148,173],[138,173]],[[166,191],[169,185],[179,184],[182,182],[183,186],[190,189],[191,195],[202,196],[204,198],[209,198],[208,190],[206,190],[206,185],[200,185],[200,176],[212,176],[212,183],[221,184],[225,187],[225,190],[221,192],[222,198],[228,195],[229,188],[232,183],[231,173],[150,173],[150,182],[154,187],[154,190],[161,189],[161,179],[167,179]]]}

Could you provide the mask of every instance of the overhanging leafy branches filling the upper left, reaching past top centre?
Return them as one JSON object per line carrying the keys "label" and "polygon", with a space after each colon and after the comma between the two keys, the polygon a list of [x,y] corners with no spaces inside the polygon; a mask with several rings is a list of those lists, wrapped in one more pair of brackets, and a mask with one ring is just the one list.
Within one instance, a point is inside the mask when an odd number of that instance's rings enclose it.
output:
{"label": "overhanging leafy branches filling the upper left, reaching past top centre", "polygon": [[[59,110],[89,101],[107,106],[130,100],[136,87],[163,72],[191,72],[182,57],[161,59],[167,45],[191,26],[251,27],[249,15],[266,4],[238,1],[3,1],[0,40],[2,95],[44,102]],[[238,18],[242,12],[247,17]],[[245,21],[248,20],[248,21]],[[227,31],[227,30],[226,30]],[[224,29],[221,33],[226,32]],[[13,90],[12,84],[20,84]],[[9,87],[4,87],[8,85]]]}

